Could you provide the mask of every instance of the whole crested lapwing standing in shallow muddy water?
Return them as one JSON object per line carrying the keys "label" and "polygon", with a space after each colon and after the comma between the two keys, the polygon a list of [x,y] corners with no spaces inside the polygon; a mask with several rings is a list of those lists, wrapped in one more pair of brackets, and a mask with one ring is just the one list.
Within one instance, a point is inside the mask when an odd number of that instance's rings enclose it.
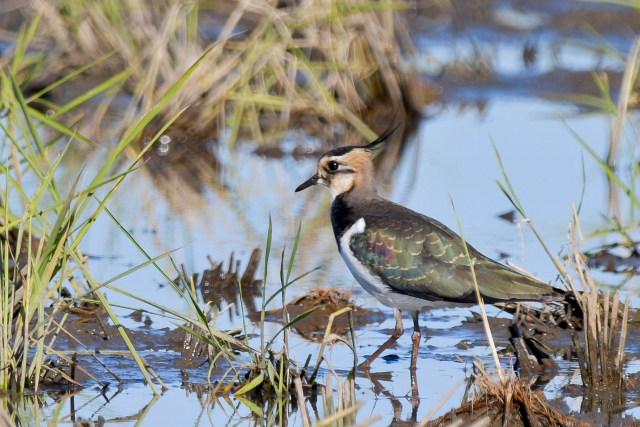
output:
{"label": "whole crested lapwing standing in shallow muddy water", "polygon": [[[397,128],[397,126],[396,126]],[[391,135],[367,145],[324,153],[316,173],[295,191],[321,186],[331,194],[331,224],[338,250],[356,281],[394,311],[391,337],[359,366],[371,363],[404,334],[402,312],[413,320],[410,370],[415,373],[421,339],[420,312],[478,304],[469,260],[484,302],[552,302],[561,289],[481,254],[441,222],[381,197],[373,153]],[[412,383],[415,381],[412,377]],[[417,390],[417,383],[412,389]],[[417,392],[417,391],[416,391]]]}

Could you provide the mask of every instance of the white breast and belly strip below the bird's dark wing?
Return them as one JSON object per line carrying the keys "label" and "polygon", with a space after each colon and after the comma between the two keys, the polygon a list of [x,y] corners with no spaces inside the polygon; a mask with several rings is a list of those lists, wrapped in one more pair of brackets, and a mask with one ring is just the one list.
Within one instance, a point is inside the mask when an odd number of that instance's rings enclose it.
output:
{"label": "white breast and belly strip below the bird's dark wing", "polygon": [[453,305],[446,302],[427,301],[393,292],[389,285],[384,283],[378,275],[371,272],[365,265],[358,261],[349,247],[349,242],[352,236],[364,233],[365,227],[366,223],[364,218],[360,218],[340,238],[340,254],[342,255],[342,259],[344,259],[351,274],[353,274],[353,277],[355,277],[356,281],[360,283],[360,286],[362,286],[365,291],[373,295],[382,304],[400,310],[423,311]]}

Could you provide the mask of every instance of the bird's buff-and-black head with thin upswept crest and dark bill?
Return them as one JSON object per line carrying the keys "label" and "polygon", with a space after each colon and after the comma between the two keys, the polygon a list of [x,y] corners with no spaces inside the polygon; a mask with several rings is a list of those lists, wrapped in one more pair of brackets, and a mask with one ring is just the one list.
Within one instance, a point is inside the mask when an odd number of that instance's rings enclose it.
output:
{"label": "bird's buff-and-black head with thin upswept crest and dark bill", "polygon": [[318,160],[315,175],[300,184],[296,192],[313,185],[321,185],[335,199],[340,194],[355,190],[363,195],[375,195],[373,180],[373,150],[382,144],[396,130],[397,126],[385,132],[380,138],[367,145],[347,146],[327,151]]}

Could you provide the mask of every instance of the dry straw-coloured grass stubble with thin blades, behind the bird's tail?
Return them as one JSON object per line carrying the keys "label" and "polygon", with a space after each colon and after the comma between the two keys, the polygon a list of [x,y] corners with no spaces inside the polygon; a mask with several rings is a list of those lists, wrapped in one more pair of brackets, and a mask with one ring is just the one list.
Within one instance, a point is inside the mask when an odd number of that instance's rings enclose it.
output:
{"label": "dry straw-coloured grass stubble with thin blades, behind the bird's tail", "polygon": [[[598,160],[598,163],[610,178],[610,182],[625,190],[625,193],[630,198],[631,212],[633,212],[637,203],[634,192],[630,191],[622,183],[622,180],[604,160],[595,155],[595,152],[586,142],[580,139],[579,136],[576,135],[576,137]],[[587,257],[580,252],[580,247],[584,244],[585,239],[580,229],[579,206],[577,208],[575,205],[572,206],[573,221],[569,224],[568,239],[570,244],[565,248],[564,262],[560,256],[556,257],[551,254],[533,226],[533,222],[526,216],[524,208],[520,204],[504,171],[497,150],[496,155],[505,182],[505,184],[498,183],[500,188],[525,218],[524,221],[531,227],[540,244],[558,269],[560,280],[570,289],[568,298],[571,298],[572,301],[568,302],[566,313],[566,322],[569,327],[572,327],[571,318],[574,313],[580,312],[582,315],[582,321],[578,322],[581,323],[583,328],[582,342],[580,334],[575,330],[573,331],[572,339],[573,353],[578,359],[583,385],[583,408],[587,411],[604,411],[621,405],[622,392],[625,391],[627,385],[624,353],[630,298],[627,297],[624,304],[620,303],[618,292],[612,298],[610,292],[600,291],[591,277],[586,262]],[[635,169],[637,169],[637,166],[634,166]],[[635,176],[635,173],[632,175]],[[635,186],[632,185],[631,188],[635,188]],[[618,231],[621,231],[620,227],[618,227]],[[596,234],[602,235],[603,233],[597,232]],[[608,234],[608,232],[605,231],[604,234]],[[625,235],[626,232],[622,232],[622,234]],[[570,307],[571,305],[576,307]],[[602,395],[608,397],[603,399]]]}

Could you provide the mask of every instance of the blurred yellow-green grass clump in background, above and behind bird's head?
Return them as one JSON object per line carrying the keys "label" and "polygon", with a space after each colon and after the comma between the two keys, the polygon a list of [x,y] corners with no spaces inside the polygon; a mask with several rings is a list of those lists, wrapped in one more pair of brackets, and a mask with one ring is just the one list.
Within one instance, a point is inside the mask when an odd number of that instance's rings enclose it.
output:
{"label": "blurred yellow-green grass clump in background, above and behind bird's head", "polygon": [[[213,11],[220,16],[219,3],[32,0],[25,10],[32,12],[34,23],[30,41],[46,40],[46,55],[16,48],[8,58],[16,58],[14,72],[35,88],[108,56],[85,74],[124,75],[104,92],[104,102],[129,92],[126,124],[140,109],[155,105],[159,94],[211,49],[192,84],[155,121],[156,128],[190,106],[176,126],[190,131],[226,126],[229,141],[245,132],[263,142],[290,124],[335,118],[373,139],[376,135],[361,117],[374,104],[390,104],[391,114],[398,108],[416,112],[433,97],[417,74],[400,63],[399,40],[405,54],[413,51],[404,26],[394,24],[393,11],[402,7],[397,1],[241,0],[225,5],[226,22],[211,39],[203,35],[211,29],[203,21]],[[55,115],[65,113],[53,103],[38,102]],[[84,125],[95,127],[106,111],[98,108],[95,120]]]}

